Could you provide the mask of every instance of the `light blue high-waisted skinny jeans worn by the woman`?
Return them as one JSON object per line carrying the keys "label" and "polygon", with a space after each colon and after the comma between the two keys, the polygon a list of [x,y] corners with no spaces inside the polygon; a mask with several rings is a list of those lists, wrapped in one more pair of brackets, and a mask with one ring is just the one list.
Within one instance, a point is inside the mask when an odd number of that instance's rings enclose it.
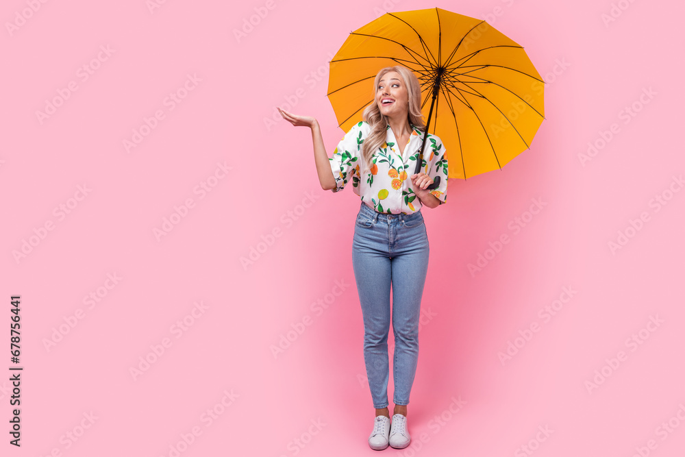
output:
{"label": "light blue high-waisted skinny jeans worn by the woman", "polygon": [[382,214],[362,201],[354,227],[352,267],[364,317],[364,363],[374,408],[388,406],[390,284],[393,286],[395,404],[409,404],[419,360],[419,314],[428,271],[421,210]]}

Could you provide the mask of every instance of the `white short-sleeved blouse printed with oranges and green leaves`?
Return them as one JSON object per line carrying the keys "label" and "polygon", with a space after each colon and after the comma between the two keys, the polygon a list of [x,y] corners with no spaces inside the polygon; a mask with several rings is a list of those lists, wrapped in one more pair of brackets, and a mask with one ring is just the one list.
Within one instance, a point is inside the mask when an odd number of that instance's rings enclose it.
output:
{"label": "white short-sleeved blouse printed with oranges and green leaves", "polygon": [[[343,190],[352,181],[352,190],[362,197],[367,206],[387,214],[412,214],[421,209],[421,199],[412,190],[410,176],[416,169],[416,160],[423,140],[423,132],[412,125],[414,132],[409,137],[403,154],[400,155],[397,140],[390,125],[386,128],[386,142],[373,153],[371,170],[360,176],[362,143],[371,133],[371,125],[362,121],[340,140],[329,158],[336,187],[333,192]],[[431,190],[440,205],[447,202],[447,159],[443,143],[435,135],[428,134],[428,144],[423,149],[421,171],[432,177],[440,176],[440,185]]]}

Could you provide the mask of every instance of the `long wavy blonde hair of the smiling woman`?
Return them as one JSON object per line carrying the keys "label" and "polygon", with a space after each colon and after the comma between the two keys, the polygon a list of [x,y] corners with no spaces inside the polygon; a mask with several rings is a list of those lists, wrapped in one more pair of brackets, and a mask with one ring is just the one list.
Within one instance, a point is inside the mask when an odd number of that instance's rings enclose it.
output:
{"label": "long wavy blonde hair of the smiling woman", "polygon": [[386,140],[386,129],[388,128],[388,118],[382,114],[376,103],[376,91],[378,89],[378,84],[381,78],[390,71],[397,71],[404,82],[404,86],[407,88],[407,95],[409,99],[409,110],[407,112],[407,120],[410,125],[421,130],[425,129],[425,122],[423,121],[423,114],[421,113],[421,84],[419,84],[419,79],[416,78],[414,72],[406,68],[406,66],[386,66],[381,69],[373,82],[373,103],[367,106],[362,113],[362,119],[364,122],[371,126],[371,132],[369,136],[366,137],[364,143],[362,143],[362,162],[366,167],[364,171],[371,168],[371,158],[375,151],[385,142]]}

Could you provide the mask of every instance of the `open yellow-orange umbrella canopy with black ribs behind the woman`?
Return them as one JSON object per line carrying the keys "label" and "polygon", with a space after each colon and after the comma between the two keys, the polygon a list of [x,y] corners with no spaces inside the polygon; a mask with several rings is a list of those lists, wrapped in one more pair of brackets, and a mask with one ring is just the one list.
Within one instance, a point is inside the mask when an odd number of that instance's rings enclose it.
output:
{"label": "open yellow-orange umbrella canopy with black ribs behind the woman", "polygon": [[432,8],[387,13],[349,34],[328,83],[345,132],[373,103],[376,73],[397,64],[421,82],[426,134],[445,144],[447,177],[501,169],[530,149],[545,119],[544,82],[523,47],[486,21]]}

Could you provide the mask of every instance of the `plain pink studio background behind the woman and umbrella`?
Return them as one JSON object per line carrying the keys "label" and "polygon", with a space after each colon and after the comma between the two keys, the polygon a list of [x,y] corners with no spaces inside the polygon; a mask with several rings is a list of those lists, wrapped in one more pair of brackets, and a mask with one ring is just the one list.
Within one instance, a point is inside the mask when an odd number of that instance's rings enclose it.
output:
{"label": "plain pink studio background behind the woman and umbrella", "polygon": [[[447,204],[423,211],[412,447],[385,452],[682,456],[683,3],[232,3],[3,2],[0,338],[8,348],[20,294],[24,371],[16,448],[5,349],[2,454],[373,453],[351,266],[360,201],[321,190],[310,133],[272,115],[290,100],[315,116],[330,155],[343,132],[327,62],[347,34],[438,6],[525,47],[547,119],[502,171],[450,180]],[[155,128],[127,152],[145,119]]]}

